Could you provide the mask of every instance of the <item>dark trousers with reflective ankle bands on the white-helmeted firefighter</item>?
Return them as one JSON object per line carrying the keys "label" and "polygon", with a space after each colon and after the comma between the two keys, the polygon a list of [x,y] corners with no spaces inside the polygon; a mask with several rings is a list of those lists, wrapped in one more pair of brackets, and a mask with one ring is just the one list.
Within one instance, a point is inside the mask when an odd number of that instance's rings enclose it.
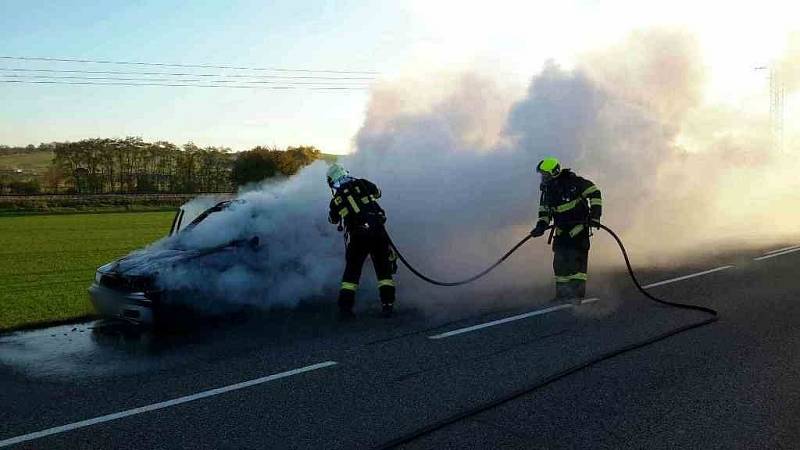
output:
{"label": "dark trousers with reflective ankle bands on the white-helmeted firefighter", "polygon": [[339,290],[339,307],[351,310],[355,304],[361,269],[369,256],[378,278],[378,293],[382,304],[392,304],[395,300],[394,253],[389,246],[389,238],[383,226],[374,226],[366,230],[355,230],[349,233],[346,265]]}

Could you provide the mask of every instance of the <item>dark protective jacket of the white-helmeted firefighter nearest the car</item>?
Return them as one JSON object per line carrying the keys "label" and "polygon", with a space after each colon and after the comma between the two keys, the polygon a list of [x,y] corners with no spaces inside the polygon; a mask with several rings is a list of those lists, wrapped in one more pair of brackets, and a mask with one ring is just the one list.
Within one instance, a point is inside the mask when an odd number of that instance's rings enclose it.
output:
{"label": "dark protective jacket of the white-helmeted firefighter nearest the car", "polygon": [[386,222],[386,213],[378,204],[381,190],[370,181],[353,178],[336,189],[330,203],[328,220],[341,223],[348,233]]}

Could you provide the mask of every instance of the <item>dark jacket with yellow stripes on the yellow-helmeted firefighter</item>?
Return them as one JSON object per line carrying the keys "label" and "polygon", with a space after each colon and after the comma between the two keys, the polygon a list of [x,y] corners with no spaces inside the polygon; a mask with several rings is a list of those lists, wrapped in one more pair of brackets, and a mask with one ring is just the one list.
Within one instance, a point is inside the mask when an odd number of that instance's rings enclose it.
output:
{"label": "dark jacket with yellow stripes on the yellow-helmeted firefighter", "polygon": [[603,199],[600,189],[569,169],[540,186],[539,222],[555,224],[556,245],[583,240],[588,245],[589,220],[600,220]]}

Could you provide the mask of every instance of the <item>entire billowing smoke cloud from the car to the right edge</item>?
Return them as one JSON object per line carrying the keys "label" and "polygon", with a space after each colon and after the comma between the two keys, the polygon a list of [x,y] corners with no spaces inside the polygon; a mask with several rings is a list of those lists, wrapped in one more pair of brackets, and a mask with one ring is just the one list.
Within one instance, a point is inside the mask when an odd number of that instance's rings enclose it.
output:
{"label": "entire billowing smoke cloud from the car to the right edge", "polygon": [[[587,54],[573,69],[547,63],[522,98],[480,74],[458,77],[449,92],[425,101],[416,94],[424,84],[386,84],[373,92],[358,151],[341,162],[383,189],[396,243],[438,278],[480,270],[530,230],[538,204],[533,168],[546,155],[599,185],[604,221],[638,261],[732,236],[796,233],[798,164],[768,153],[766,123],[704,105],[704,82],[693,37],[656,30]],[[332,301],[343,245],[326,221],[325,168],[317,162],[243,193],[246,204],[181,238],[194,248],[258,235],[261,252],[240,253],[243,262],[231,259],[222,273],[198,258],[163,272],[163,284],[210,284],[232,301],[267,306],[321,295]],[[605,237],[595,247],[591,264],[618,262]],[[401,269],[400,301],[492,299],[546,286],[550,257],[544,242],[534,242],[496,274],[457,290],[423,285]],[[362,301],[376,297],[372,278],[365,270]]]}

